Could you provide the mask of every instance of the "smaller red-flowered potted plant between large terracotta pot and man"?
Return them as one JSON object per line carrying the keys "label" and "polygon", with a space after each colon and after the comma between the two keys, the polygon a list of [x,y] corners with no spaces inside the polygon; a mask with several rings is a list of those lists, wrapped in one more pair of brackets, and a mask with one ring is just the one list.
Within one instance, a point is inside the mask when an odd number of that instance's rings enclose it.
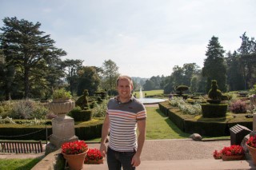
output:
{"label": "smaller red-flowered potted plant between large terracotta pot and man", "polygon": [[86,154],[85,164],[103,164],[103,156],[97,148],[90,148]]}

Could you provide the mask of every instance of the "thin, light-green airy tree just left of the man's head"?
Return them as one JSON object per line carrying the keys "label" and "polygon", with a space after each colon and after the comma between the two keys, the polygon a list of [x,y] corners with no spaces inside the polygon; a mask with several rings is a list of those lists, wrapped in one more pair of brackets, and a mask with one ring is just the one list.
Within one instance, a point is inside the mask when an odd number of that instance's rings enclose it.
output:
{"label": "thin, light-green airy tree just left of the man's head", "polygon": [[116,87],[116,80],[120,75],[118,65],[114,61],[107,60],[103,62],[102,70],[102,89],[109,90],[111,95]]}

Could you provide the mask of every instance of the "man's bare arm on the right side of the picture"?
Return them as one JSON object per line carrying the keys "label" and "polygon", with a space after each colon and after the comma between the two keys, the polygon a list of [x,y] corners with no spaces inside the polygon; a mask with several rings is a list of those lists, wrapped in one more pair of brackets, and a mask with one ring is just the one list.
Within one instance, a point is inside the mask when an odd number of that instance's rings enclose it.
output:
{"label": "man's bare arm on the right side of the picture", "polygon": [[137,167],[139,164],[141,164],[140,156],[142,154],[142,148],[145,142],[145,138],[146,138],[146,119],[138,121],[138,148],[133,159],[131,160],[131,164],[133,164],[134,167]]}

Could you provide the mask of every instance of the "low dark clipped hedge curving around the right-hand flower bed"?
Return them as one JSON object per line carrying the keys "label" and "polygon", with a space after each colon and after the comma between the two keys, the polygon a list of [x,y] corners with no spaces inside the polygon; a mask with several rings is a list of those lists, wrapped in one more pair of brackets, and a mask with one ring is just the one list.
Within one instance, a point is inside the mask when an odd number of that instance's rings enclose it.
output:
{"label": "low dark clipped hedge curving around the right-hand flower bed", "polygon": [[234,125],[242,125],[252,129],[252,119],[242,119],[238,117],[226,120],[204,120],[195,119],[193,116],[182,114],[179,109],[170,106],[169,101],[158,104],[159,109],[170,121],[174,122],[178,128],[187,133],[199,133],[202,136],[230,136],[230,128]]}

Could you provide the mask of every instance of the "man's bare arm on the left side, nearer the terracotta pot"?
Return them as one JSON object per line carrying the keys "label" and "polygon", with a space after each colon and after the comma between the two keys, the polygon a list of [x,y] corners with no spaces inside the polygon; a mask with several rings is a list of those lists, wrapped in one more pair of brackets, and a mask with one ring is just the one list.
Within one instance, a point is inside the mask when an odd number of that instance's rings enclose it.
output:
{"label": "man's bare arm on the left side, nearer the terracotta pot", "polygon": [[102,153],[102,156],[106,156],[106,137],[108,136],[110,132],[110,120],[109,115],[106,114],[105,120],[102,125],[102,140],[101,140],[101,146],[100,146],[100,152]]}

